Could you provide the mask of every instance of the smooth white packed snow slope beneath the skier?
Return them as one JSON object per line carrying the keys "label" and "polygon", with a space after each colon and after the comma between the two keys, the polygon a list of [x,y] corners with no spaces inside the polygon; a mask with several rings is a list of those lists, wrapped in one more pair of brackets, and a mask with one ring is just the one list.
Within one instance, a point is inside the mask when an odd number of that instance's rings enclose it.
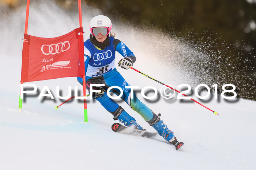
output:
{"label": "smooth white packed snow slope beneath the skier", "polygon": [[[11,61],[10,61],[11,62]],[[17,62],[18,63],[18,62]],[[19,68],[19,64],[14,64]],[[4,67],[7,69],[7,67]],[[146,70],[146,67],[142,69]],[[19,72],[16,70],[16,72]],[[129,72],[129,73],[128,73]],[[146,78],[128,70],[131,84],[145,86]],[[18,76],[4,76],[10,87],[1,87],[0,169],[253,169],[255,167],[255,102],[239,100],[205,103],[214,115],[196,103],[147,105],[185,143],[180,151],[162,137],[143,138],[114,133],[112,115],[97,102],[88,102],[89,122],[83,123],[83,104],[28,97],[18,112]],[[160,76],[164,79],[164,76]],[[71,83],[69,83],[71,82]],[[77,86],[75,78],[35,82],[37,86]],[[13,84],[16,84],[15,86]],[[65,85],[67,84],[67,85]],[[38,87],[39,89],[39,87]],[[42,88],[41,88],[42,89]],[[53,95],[54,95],[54,90]],[[56,93],[55,93],[56,94]],[[56,96],[56,95],[55,95]],[[141,98],[141,96],[140,96]],[[142,98],[141,98],[142,99]],[[153,128],[120,103],[148,131]]]}

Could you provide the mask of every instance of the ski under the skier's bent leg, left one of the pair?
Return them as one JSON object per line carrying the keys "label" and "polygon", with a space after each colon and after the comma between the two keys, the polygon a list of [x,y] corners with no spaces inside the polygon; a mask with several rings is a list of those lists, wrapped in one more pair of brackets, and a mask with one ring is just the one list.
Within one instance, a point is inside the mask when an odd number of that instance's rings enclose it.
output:
{"label": "ski under the skier's bent leg, left one of the pair", "polygon": [[153,137],[156,134],[158,134],[157,132],[148,132],[148,131],[144,131],[144,130],[132,129],[127,126],[123,126],[120,123],[112,124],[111,128],[114,132],[128,134],[128,135],[141,136],[141,137],[147,137],[147,138]]}

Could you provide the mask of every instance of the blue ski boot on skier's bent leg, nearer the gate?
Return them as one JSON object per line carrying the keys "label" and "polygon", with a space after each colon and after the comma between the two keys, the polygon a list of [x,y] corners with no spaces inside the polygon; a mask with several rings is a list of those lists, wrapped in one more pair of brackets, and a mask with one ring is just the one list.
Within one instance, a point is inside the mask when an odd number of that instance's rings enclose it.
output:
{"label": "blue ski boot on skier's bent leg, nearer the gate", "polygon": [[123,122],[125,126],[132,127],[133,129],[144,130],[143,127],[141,127],[121,106],[119,106],[112,114],[114,116],[114,120],[118,119],[120,122]]}

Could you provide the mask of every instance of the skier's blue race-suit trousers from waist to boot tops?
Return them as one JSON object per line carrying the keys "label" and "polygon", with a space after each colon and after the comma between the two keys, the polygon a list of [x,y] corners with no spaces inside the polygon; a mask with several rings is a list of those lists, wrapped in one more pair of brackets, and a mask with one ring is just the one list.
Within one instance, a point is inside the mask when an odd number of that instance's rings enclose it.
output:
{"label": "skier's blue race-suit trousers from waist to boot tops", "polygon": [[[107,91],[107,89],[111,86],[120,87],[121,89],[123,89],[123,95],[121,96],[121,99],[123,99],[133,110],[138,112],[146,121],[150,121],[151,119],[153,119],[153,112],[145,104],[140,102],[140,100],[136,97],[135,93],[133,93],[133,99],[131,99],[131,89],[124,88],[125,86],[130,85],[126,82],[123,76],[121,76],[121,74],[116,70],[116,68],[102,76],[86,77],[86,88],[87,90],[89,90],[89,92],[90,84],[105,84],[105,87],[103,87],[105,91]],[[111,91],[118,96],[120,95],[120,90],[117,88],[112,88]],[[115,112],[118,111],[118,109],[120,109],[120,106],[111,98],[109,98],[106,92],[104,92],[104,94],[101,97],[96,98],[96,100],[98,100],[101,103],[101,105],[113,115]],[[132,118],[131,116],[129,117]]]}

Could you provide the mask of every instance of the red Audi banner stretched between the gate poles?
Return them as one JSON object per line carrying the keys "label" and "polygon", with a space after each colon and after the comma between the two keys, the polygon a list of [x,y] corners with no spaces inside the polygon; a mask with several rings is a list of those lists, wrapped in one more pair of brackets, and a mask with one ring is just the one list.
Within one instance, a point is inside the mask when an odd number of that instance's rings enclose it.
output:
{"label": "red Audi banner stretched between the gate poles", "polygon": [[27,42],[23,44],[21,81],[33,82],[84,75],[84,58],[79,59],[78,49],[80,29],[55,38],[25,34]]}

